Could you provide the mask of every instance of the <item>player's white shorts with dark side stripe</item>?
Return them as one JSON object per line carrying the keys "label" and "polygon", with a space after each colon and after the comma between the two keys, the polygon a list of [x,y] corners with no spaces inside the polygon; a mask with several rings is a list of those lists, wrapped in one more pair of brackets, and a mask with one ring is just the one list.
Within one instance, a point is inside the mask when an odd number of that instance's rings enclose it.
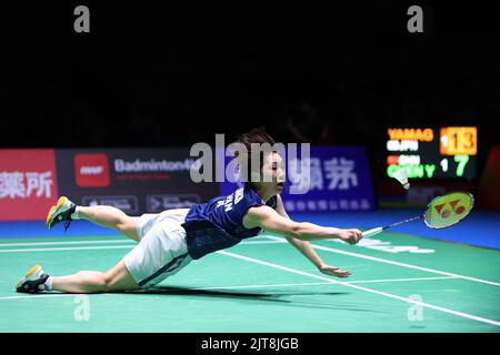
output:
{"label": "player's white shorts with dark side stripe", "polygon": [[188,212],[189,209],[177,209],[139,217],[140,242],[123,258],[139,286],[149,288],[192,261],[181,225]]}

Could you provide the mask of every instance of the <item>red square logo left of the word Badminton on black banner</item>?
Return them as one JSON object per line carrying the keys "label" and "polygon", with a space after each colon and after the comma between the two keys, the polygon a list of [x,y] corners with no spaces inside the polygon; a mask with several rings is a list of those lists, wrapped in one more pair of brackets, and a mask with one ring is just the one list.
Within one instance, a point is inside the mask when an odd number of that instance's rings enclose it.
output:
{"label": "red square logo left of the word Badminton on black banner", "polygon": [[108,155],[77,154],[74,156],[74,180],[79,187],[109,186]]}

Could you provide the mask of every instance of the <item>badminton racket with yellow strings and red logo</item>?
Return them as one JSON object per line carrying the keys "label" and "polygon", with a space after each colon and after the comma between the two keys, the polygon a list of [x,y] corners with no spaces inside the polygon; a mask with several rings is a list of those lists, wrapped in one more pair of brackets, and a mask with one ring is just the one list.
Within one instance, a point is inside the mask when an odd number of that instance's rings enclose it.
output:
{"label": "badminton racket with yellow strings and red logo", "polygon": [[451,192],[446,195],[433,199],[427,205],[423,214],[414,217],[396,222],[386,226],[379,226],[364,231],[362,236],[372,236],[387,229],[400,225],[407,222],[420,220],[423,217],[426,225],[431,229],[446,229],[463,220],[474,205],[474,197],[468,192]]}

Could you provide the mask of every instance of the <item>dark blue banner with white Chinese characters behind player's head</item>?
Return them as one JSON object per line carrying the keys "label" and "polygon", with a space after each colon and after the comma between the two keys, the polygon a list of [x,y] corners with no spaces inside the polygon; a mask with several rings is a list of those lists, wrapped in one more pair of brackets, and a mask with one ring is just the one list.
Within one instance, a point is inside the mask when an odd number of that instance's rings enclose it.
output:
{"label": "dark blue banner with white Chinese characters behind player's head", "polygon": [[[287,181],[281,197],[287,212],[374,210],[369,162],[363,146],[311,146],[310,156],[298,156],[293,164],[286,159]],[[224,169],[230,161],[231,156],[224,158]],[[309,174],[293,169],[303,163],[309,166]],[[221,193],[231,193],[239,186],[242,183],[224,181]],[[296,189],[291,191],[291,186]]]}

